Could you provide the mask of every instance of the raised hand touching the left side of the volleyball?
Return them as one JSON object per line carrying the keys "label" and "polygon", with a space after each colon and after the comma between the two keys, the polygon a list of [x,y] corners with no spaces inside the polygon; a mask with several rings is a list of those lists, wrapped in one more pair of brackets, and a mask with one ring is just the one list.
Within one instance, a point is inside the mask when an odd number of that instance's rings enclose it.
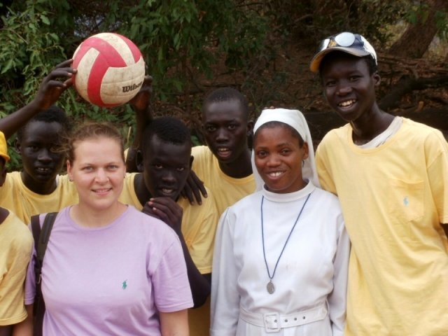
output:
{"label": "raised hand touching the left side of the volleyball", "polygon": [[36,109],[43,111],[57,102],[62,92],[73,85],[72,78],[76,74],[76,69],[70,67],[71,62],[73,59],[57,64],[55,69],[43,78],[36,97],[30,104],[34,104]]}

